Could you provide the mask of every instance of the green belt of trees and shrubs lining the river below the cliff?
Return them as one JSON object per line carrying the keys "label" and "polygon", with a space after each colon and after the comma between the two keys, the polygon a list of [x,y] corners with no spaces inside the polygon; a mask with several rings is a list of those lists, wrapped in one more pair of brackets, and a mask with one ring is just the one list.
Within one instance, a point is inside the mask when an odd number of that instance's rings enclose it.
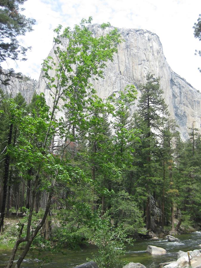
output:
{"label": "green belt of trees and shrubs lining the river below the cliff", "polygon": [[[150,73],[134,115],[133,85],[100,99],[89,78],[104,77],[122,40],[116,29],[94,38],[88,23],[54,30],[55,57],[43,63],[51,107],[42,93],[27,104],[20,94],[1,92],[0,240],[13,245],[7,267],[18,247],[15,267],[30,248],[89,242],[98,247],[100,268],[122,267],[118,256],[138,233],[176,232],[201,220],[200,134],[192,124],[189,140],[181,141],[160,80]],[[18,228],[4,230],[11,210],[25,216]]]}

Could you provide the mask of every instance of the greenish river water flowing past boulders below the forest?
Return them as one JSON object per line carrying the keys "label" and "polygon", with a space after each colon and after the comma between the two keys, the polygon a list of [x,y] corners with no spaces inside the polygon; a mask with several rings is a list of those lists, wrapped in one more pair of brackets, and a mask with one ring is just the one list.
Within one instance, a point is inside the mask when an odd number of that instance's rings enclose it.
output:
{"label": "greenish river water flowing past boulders below the forest", "polygon": [[[167,239],[159,240],[136,240],[133,246],[127,247],[127,253],[123,257],[124,260],[129,262],[140,262],[146,267],[158,268],[158,264],[166,261],[173,261],[177,259],[177,252],[179,250],[188,251],[199,249],[198,246],[201,244],[201,232],[196,231],[194,233],[178,235],[177,238],[180,241],[168,242]],[[146,252],[147,246],[153,245],[166,249],[166,255],[154,256]],[[83,247],[81,250],[63,250],[63,253],[42,253],[30,252],[21,267],[45,267],[45,268],[56,268],[56,267],[69,267],[72,268],[78,264],[86,262],[87,258],[91,258],[92,254],[97,253],[97,249],[93,246]],[[0,251],[0,267],[5,267],[6,262],[9,259],[11,251],[2,250]],[[17,254],[20,255],[20,252]],[[47,259],[49,263],[44,263],[42,260]],[[107,267],[106,267],[107,268]]]}

